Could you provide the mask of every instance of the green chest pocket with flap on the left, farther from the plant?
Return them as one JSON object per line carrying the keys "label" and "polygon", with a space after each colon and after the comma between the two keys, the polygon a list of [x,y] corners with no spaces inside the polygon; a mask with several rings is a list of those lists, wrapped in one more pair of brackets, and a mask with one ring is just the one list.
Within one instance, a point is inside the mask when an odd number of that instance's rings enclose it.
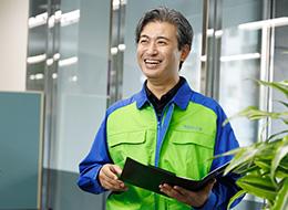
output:
{"label": "green chest pocket with flap on the left, farther from the plant", "polygon": [[150,149],[146,132],[127,132],[107,136],[109,153],[114,164],[124,166],[126,157],[147,162]]}

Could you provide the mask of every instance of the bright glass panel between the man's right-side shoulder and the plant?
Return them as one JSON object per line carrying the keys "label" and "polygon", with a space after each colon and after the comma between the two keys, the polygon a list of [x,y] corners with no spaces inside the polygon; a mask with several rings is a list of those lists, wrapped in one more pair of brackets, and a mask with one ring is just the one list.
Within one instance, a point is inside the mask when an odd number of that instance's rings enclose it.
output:
{"label": "bright glass panel between the man's right-side shoulder and the plant", "polygon": [[[223,30],[216,31],[222,39],[219,103],[228,116],[240,109],[259,104],[259,90],[251,80],[259,78],[261,31],[248,30],[247,22],[263,19],[263,1],[223,1]],[[243,12],[245,11],[245,15]],[[240,146],[257,139],[257,124],[245,118],[232,120]]]}

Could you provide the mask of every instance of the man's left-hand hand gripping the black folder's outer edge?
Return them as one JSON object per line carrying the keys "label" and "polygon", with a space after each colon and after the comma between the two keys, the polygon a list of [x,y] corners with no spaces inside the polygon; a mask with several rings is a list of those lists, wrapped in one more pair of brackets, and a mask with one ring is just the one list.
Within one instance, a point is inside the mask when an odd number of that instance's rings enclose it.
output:
{"label": "man's left-hand hand gripping the black folder's outer edge", "polygon": [[112,191],[127,190],[123,181],[119,180],[122,169],[112,164],[105,164],[99,172],[99,180],[103,188]]}

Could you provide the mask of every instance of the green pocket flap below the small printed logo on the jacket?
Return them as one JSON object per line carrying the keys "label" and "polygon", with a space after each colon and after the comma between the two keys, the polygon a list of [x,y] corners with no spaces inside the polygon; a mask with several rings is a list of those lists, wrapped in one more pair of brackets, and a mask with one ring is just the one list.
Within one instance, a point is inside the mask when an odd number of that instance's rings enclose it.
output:
{"label": "green pocket flap below the small printed logo on the jacket", "polygon": [[172,143],[176,145],[199,145],[213,149],[215,144],[215,138],[210,135],[196,133],[196,132],[173,132]]}

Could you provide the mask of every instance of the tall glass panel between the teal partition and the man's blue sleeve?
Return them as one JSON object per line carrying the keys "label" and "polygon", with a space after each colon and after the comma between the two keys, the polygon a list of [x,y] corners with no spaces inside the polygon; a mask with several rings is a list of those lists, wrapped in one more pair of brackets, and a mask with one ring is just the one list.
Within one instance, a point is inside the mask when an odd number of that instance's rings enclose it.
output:
{"label": "tall glass panel between the teal partition and the man's blue sleeve", "polygon": [[110,2],[63,0],[61,11],[73,21],[61,22],[53,168],[78,171],[106,108]]}

